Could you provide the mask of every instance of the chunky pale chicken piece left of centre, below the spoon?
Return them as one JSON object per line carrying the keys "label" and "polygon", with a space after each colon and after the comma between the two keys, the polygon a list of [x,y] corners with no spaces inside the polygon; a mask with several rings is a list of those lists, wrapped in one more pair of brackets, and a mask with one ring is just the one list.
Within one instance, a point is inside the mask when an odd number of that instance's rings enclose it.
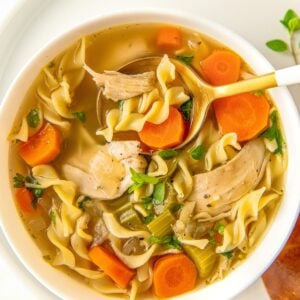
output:
{"label": "chunky pale chicken piece left of centre, below the spoon", "polygon": [[120,197],[132,184],[130,168],[144,172],[146,160],[137,141],[111,142],[71,157],[63,165],[64,176],[73,181],[80,193],[110,200]]}

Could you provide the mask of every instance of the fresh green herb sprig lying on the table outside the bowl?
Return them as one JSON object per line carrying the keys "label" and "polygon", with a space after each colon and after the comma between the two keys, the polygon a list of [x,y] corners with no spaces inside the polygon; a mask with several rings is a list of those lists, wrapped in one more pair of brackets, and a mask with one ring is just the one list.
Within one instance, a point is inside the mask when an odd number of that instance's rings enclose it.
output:
{"label": "fresh green herb sprig lying on the table outside the bowl", "polygon": [[266,46],[276,52],[290,51],[295,63],[299,64],[297,51],[300,48],[300,44],[296,45],[295,33],[300,30],[300,17],[294,10],[289,9],[285,13],[283,19],[280,20],[280,23],[289,33],[289,42],[287,43],[281,39],[273,39],[266,42]]}

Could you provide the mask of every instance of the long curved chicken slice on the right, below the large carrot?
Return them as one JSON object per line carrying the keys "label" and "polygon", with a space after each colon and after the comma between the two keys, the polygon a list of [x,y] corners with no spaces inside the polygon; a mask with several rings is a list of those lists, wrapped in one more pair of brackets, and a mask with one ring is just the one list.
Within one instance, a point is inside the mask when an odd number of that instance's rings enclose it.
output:
{"label": "long curved chicken slice on the right, below the large carrot", "polygon": [[255,188],[266,165],[266,148],[261,139],[248,142],[227,164],[194,176],[189,201],[196,201],[196,212],[240,199]]}

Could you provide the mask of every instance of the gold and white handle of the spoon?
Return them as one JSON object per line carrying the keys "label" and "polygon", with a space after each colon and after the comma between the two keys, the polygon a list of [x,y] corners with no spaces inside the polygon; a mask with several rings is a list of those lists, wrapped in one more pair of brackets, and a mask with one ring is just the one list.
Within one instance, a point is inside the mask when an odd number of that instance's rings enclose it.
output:
{"label": "gold and white handle of the spoon", "polygon": [[300,83],[300,65],[281,69],[261,76],[255,76],[247,80],[214,87],[213,98],[218,99],[236,94],[254,92],[257,90],[296,83]]}

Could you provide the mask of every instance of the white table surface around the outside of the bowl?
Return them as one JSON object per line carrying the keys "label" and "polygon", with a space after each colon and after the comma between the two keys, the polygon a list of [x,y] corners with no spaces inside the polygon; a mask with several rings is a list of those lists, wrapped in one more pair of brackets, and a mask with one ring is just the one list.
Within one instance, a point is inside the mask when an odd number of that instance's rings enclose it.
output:
{"label": "white table surface around the outside of the bowl", "polygon": [[[293,64],[289,55],[273,53],[265,42],[287,38],[278,20],[288,8],[300,14],[300,0],[0,0],[0,101],[18,70],[55,35],[102,12],[145,6],[175,7],[191,13],[197,10],[199,16],[224,24],[246,38],[274,67]],[[290,90],[299,109],[300,86]],[[58,299],[26,271],[1,230],[0,299]],[[260,280],[235,298],[250,299],[268,299]]]}

